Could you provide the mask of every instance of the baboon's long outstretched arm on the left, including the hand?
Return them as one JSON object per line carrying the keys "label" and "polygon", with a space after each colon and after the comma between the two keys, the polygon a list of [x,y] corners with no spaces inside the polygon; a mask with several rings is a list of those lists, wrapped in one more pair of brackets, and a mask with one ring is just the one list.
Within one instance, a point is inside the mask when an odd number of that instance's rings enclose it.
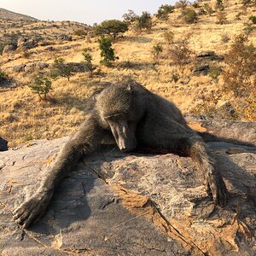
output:
{"label": "baboon's long outstretched arm on the left, including the hand", "polygon": [[35,195],[15,209],[14,219],[17,224],[26,228],[33,220],[44,215],[61,180],[73,170],[83,154],[89,154],[99,146],[103,133],[96,120],[88,116],[80,130],[61,149]]}

